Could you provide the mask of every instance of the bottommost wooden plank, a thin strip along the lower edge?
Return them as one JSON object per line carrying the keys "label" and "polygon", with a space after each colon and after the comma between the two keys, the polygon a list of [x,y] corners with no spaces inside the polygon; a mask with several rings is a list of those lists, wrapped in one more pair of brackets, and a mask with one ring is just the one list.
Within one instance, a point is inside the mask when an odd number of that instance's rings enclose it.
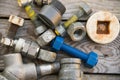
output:
{"label": "bottommost wooden plank, a thin strip along the lower edge", "polygon": [[[58,80],[58,76],[45,76],[39,80]],[[83,80],[120,80],[120,75],[93,75],[84,74]]]}

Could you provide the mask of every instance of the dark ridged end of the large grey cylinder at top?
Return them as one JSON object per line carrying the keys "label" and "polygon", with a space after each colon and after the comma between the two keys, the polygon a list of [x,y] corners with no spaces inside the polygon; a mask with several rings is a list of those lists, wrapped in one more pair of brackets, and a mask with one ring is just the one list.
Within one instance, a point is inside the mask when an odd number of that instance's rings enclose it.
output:
{"label": "dark ridged end of the large grey cylinder at top", "polygon": [[57,8],[58,11],[61,13],[61,15],[63,15],[64,12],[66,11],[65,6],[58,0],[53,0],[51,5],[53,5],[55,8]]}

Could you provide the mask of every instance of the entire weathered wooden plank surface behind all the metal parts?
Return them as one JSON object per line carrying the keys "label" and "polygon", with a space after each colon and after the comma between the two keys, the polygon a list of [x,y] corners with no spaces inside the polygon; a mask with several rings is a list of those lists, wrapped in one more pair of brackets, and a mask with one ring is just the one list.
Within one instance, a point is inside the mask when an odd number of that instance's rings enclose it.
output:
{"label": "entire weathered wooden plank surface behind all the metal parts", "polygon": [[[78,11],[79,3],[81,1],[87,2],[93,10],[93,13],[100,10],[106,10],[114,13],[120,20],[120,0],[60,0],[67,8],[66,13],[63,15],[62,21],[64,22],[70,16]],[[34,6],[35,7],[35,6]],[[40,8],[35,8],[36,12],[39,12]],[[92,13],[92,14],[93,14]],[[23,27],[19,28],[16,38],[22,37],[35,40],[36,36],[33,32],[34,25],[27,17],[23,8],[20,8],[17,4],[17,0],[0,0],[0,33],[6,36],[7,29],[11,26],[8,22],[10,14],[20,16],[25,19]],[[78,20],[84,25],[88,19],[88,16],[84,16]],[[79,42],[73,42],[67,38],[66,43],[78,48],[86,53],[90,51],[97,52],[99,55],[98,64],[92,68],[86,68],[81,65],[81,69],[85,73],[83,80],[120,80],[120,35],[110,44],[100,45],[94,43],[86,37]],[[1,47],[0,47],[1,48]],[[71,57],[63,52],[57,53],[57,61],[61,58]],[[41,78],[40,80],[57,80],[57,75],[49,75]]]}

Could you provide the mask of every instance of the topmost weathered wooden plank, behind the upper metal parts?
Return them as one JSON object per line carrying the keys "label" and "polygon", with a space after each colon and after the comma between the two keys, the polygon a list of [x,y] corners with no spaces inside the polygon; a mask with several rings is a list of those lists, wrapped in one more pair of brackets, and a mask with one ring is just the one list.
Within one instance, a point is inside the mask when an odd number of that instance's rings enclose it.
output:
{"label": "topmost weathered wooden plank, behind the upper metal parts", "polygon": [[[24,9],[20,8],[17,0],[0,0],[0,17],[8,17],[10,14],[20,15],[23,18],[28,18]],[[85,1],[93,9],[93,13],[99,10],[108,10],[114,13],[120,20],[120,0],[60,0],[66,6],[66,13],[63,19],[68,19],[72,14],[79,9],[81,1]],[[35,10],[38,12],[40,9]],[[88,17],[81,18],[86,20]]]}

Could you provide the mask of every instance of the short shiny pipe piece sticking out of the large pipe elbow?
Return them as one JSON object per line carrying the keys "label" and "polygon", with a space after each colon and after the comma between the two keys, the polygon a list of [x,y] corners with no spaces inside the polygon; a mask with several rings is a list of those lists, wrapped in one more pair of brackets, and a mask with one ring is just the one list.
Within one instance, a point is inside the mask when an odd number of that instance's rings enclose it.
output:
{"label": "short shiny pipe piece sticking out of the large pipe elbow", "polygon": [[37,66],[37,71],[40,72],[40,76],[56,73],[60,69],[60,64],[58,62],[53,63],[53,64],[45,64],[41,66]]}

